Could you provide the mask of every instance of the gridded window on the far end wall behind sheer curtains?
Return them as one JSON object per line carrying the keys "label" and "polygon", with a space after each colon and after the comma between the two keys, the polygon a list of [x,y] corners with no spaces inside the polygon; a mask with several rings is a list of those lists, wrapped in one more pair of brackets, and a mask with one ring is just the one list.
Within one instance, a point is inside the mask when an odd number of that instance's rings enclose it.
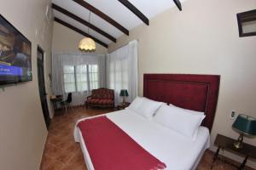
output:
{"label": "gridded window on the far end wall behind sheer curtains", "polygon": [[84,92],[99,87],[98,65],[64,65],[66,93]]}

